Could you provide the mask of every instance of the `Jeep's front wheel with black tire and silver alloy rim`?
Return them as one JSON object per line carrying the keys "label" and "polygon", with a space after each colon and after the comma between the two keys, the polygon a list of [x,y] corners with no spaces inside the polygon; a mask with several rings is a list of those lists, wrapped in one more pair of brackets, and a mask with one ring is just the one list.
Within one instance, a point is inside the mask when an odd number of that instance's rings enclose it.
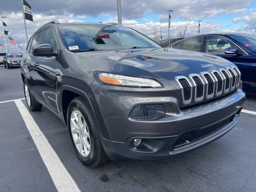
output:
{"label": "Jeep's front wheel with black tire and silver alloy rim", "polygon": [[[76,118],[81,120],[80,125],[82,123],[82,128],[77,125],[74,126],[73,122],[77,123]],[[108,161],[108,156],[100,141],[96,121],[92,116],[90,107],[82,97],[74,98],[70,102],[68,106],[67,120],[68,132],[78,159],[90,168],[95,168],[106,163]],[[81,131],[75,127],[80,127]],[[82,150],[78,150],[81,148],[80,143],[82,144]],[[89,148],[88,143],[90,144]]]}

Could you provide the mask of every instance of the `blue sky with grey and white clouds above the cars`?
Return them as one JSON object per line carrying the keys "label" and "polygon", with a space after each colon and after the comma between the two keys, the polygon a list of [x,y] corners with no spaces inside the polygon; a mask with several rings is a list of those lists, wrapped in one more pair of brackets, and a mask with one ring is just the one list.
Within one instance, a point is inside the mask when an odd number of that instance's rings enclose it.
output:
{"label": "blue sky with grey and white clouds above the cars", "polygon": [[[26,20],[28,38],[43,24],[60,22],[118,22],[116,0],[26,0],[34,22]],[[253,0],[121,0],[122,24],[152,37],[154,24],[168,38],[168,10],[171,12],[170,38],[176,38],[187,25],[185,37],[216,32],[245,32],[256,35],[256,1]],[[9,28],[9,36],[26,47],[21,0],[1,0],[0,16]],[[160,32],[160,29],[159,29]],[[6,44],[8,37],[6,36]],[[0,44],[4,32],[0,30]],[[8,46],[8,45],[7,45]],[[9,48],[9,47],[8,47]],[[11,52],[18,46],[10,44]],[[4,49],[1,49],[2,52]]]}

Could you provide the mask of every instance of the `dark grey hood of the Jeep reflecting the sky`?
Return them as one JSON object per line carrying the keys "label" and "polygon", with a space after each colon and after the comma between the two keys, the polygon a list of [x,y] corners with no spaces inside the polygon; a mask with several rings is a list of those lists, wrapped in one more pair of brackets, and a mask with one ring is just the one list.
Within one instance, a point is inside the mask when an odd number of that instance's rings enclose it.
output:
{"label": "dark grey hood of the Jeep reflecting the sky", "polygon": [[174,48],[145,48],[81,52],[77,54],[118,61],[146,70],[168,81],[174,80],[176,76],[188,76],[192,73],[200,74],[200,72],[209,72],[210,70],[218,70],[234,65],[218,56]]}

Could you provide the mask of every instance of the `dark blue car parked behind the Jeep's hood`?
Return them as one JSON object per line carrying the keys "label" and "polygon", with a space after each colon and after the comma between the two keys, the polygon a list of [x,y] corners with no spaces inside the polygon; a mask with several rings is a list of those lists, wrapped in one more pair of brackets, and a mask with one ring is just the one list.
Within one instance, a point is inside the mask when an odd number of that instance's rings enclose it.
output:
{"label": "dark blue car parked behind the Jeep's hood", "polygon": [[242,73],[243,89],[256,93],[256,36],[250,34],[205,34],[180,40],[172,48],[214,54],[230,60]]}

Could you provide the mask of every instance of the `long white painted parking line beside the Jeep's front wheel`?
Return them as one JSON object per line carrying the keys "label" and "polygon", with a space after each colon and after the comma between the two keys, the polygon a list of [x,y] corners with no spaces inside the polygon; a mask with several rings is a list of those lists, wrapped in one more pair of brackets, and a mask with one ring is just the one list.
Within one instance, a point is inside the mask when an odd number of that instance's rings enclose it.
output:
{"label": "long white painted parking line beside the Jeep's front wheel", "polygon": [[22,101],[14,100],[14,102],[20,111],[50,176],[52,177],[56,189],[59,192],[80,192],[76,182],[72,179]]}

